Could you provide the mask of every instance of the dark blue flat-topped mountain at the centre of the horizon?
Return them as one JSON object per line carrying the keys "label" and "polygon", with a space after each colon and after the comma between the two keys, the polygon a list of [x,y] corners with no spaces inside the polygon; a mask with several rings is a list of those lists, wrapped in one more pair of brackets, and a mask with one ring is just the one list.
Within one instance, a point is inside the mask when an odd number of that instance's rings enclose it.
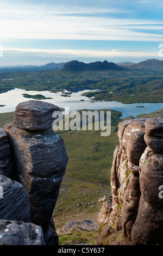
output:
{"label": "dark blue flat-topped mountain at the centre of the horizon", "polygon": [[107,62],[92,62],[84,63],[78,62],[78,60],[72,60],[71,62],[66,62],[62,68],[62,71],[103,71],[103,70],[122,70],[120,66],[115,63]]}

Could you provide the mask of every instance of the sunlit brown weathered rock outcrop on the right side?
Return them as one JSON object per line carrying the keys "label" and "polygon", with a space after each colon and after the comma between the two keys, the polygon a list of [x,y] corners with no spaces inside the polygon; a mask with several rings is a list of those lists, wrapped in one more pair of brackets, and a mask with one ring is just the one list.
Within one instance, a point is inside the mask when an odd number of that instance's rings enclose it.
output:
{"label": "sunlit brown weathered rock outcrop on the right side", "polygon": [[163,201],[159,197],[162,133],[162,119],[131,119],[119,124],[120,146],[115,149],[111,168],[112,210],[108,214],[105,209],[98,222],[120,232],[123,245],[163,243]]}

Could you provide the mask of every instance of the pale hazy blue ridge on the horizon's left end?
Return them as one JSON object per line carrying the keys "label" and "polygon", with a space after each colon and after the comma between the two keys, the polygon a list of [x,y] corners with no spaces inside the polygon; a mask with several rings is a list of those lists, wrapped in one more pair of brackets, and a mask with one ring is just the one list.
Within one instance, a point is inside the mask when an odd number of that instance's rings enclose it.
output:
{"label": "pale hazy blue ridge on the horizon's left end", "polygon": [[34,72],[34,71],[48,71],[48,70],[60,70],[65,63],[47,63],[46,65],[33,66],[33,65],[20,65],[20,66],[5,66],[0,67],[0,73],[17,73],[17,72]]}

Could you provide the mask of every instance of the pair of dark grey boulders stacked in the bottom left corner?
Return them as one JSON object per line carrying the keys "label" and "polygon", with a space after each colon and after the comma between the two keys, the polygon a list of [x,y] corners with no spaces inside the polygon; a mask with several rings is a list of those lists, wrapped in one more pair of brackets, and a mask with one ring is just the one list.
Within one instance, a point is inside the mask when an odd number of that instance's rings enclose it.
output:
{"label": "pair of dark grey boulders stacked in the bottom left corner", "polygon": [[0,245],[46,245],[43,230],[30,221],[29,195],[0,174]]}

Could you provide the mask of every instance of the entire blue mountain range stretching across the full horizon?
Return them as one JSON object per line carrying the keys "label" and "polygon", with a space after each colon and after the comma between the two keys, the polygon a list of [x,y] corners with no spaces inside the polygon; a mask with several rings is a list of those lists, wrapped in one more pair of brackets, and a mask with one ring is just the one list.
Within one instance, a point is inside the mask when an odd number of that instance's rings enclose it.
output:
{"label": "entire blue mountain range stretching across the full horizon", "polygon": [[109,70],[163,70],[163,60],[147,59],[143,62],[91,62],[84,63],[78,60],[71,60],[70,62],[61,63],[47,63],[46,65],[17,65],[0,67],[0,74],[2,73],[17,73],[17,72],[35,72],[35,71],[109,71]]}

